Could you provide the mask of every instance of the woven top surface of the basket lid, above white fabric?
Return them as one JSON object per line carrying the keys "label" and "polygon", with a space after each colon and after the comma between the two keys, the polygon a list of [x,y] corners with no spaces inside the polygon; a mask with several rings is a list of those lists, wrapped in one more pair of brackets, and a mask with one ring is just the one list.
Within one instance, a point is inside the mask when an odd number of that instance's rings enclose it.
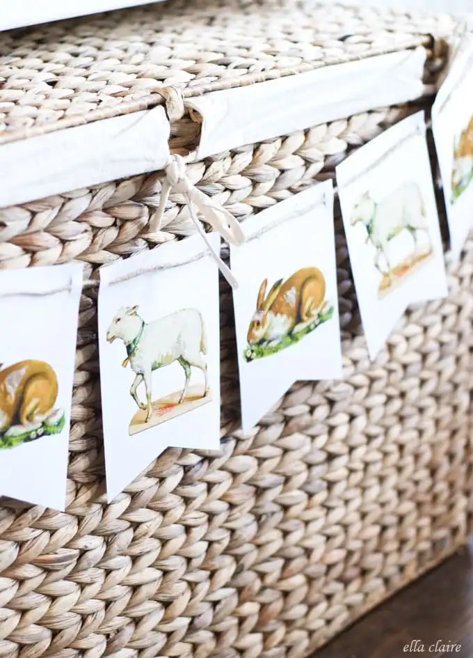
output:
{"label": "woven top surface of the basket lid, above white fabric", "polygon": [[417,45],[445,17],[313,0],[177,0],[0,34],[0,143]]}

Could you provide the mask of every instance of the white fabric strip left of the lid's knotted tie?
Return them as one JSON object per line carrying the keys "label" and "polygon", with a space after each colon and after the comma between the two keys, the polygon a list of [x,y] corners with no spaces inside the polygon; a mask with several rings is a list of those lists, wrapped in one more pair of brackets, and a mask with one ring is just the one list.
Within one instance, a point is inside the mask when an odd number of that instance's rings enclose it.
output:
{"label": "white fabric strip left of the lid's knotted tie", "polygon": [[0,146],[0,208],[163,169],[166,111],[156,107]]}

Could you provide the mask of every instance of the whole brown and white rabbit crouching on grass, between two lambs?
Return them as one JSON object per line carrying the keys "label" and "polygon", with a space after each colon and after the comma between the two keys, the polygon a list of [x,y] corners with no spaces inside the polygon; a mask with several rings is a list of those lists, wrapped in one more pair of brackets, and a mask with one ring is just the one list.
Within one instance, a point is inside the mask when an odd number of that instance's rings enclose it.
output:
{"label": "whole brown and white rabbit crouching on grass, between two lambs", "polygon": [[326,282],[316,267],[304,267],[283,283],[276,281],[268,292],[268,280],[264,279],[257,297],[257,310],[248,329],[248,343],[259,340],[280,340],[298,324],[316,317],[323,306]]}

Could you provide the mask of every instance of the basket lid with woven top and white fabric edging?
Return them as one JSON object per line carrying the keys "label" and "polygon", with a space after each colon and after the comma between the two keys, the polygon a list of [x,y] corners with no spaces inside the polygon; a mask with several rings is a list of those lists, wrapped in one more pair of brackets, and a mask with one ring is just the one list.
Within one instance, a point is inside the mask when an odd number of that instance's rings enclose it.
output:
{"label": "basket lid with woven top and white fabric edging", "polygon": [[169,148],[206,157],[415,100],[455,25],[174,0],[0,33],[0,207],[156,171]]}

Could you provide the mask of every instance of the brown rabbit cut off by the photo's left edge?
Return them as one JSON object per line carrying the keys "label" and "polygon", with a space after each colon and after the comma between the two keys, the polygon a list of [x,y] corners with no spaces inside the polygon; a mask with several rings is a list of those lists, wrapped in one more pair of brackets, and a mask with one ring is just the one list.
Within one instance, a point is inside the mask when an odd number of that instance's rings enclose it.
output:
{"label": "brown rabbit cut off by the photo's left edge", "polygon": [[0,364],[0,432],[44,421],[57,396],[58,379],[49,363],[20,361],[5,369]]}

